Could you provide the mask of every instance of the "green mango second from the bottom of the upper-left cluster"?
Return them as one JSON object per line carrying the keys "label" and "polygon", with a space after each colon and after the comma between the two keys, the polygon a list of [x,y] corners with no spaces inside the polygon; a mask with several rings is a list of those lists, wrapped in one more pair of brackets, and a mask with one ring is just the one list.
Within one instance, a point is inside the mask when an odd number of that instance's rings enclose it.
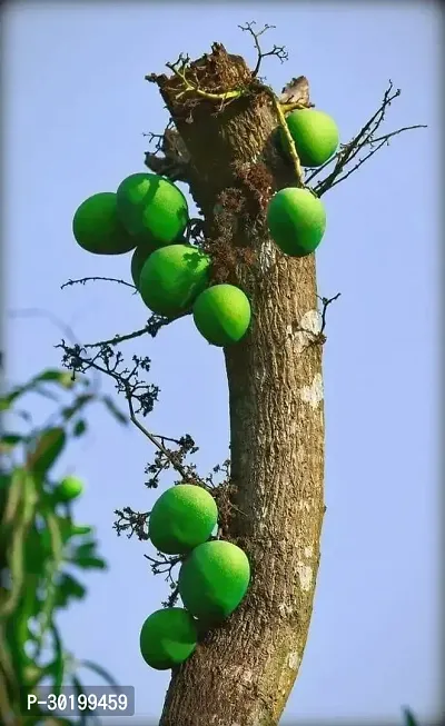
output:
{"label": "green mango second from the bottom of the upper-left cluster", "polygon": [[146,260],[139,292],[148,308],[174,318],[190,309],[208,285],[210,258],[190,245],[169,245],[155,250]]}

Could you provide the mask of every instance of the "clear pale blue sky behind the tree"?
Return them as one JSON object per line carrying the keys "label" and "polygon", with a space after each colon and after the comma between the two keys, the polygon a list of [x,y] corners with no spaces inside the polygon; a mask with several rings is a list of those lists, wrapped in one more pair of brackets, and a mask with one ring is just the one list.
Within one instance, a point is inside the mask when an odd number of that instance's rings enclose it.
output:
{"label": "clear pale blue sky behind the tree", "polygon": [[[51,311],[85,342],[144,326],[146,308],[123,287],[60,286],[89,275],[130,279],[129,256],[100,258],[76,246],[72,215],[86,197],[116,190],[144,170],[142,133],[161,132],[167,121],[144,76],[162,72],[180,51],[198,57],[217,40],[253,62],[250,39],[237,26],[271,23],[277,29],[266,42],[285,44],[289,61],[266,61],[269,83],[280,90],[305,73],[313,100],[337,120],[344,141],[378,107],[389,78],[403,93],[387,128],[428,125],[395,139],[324,198],[319,292],[342,292],[328,311],[324,359],[327,513],[309,640],[283,720],[395,724],[409,704],[426,723],[439,698],[436,6],[11,2],[4,19],[3,237],[13,380],[60,361],[55,325],[18,311]],[[152,357],[161,396],[151,430],[190,432],[202,470],[226,458],[221,351],[186,319],[128,352]],[[41,404],[34,410],[44,412]],[[138,714],[155,720],[169,675],[147,668],[138,637],[167,586],[151,575],[142,556],[148,548],[111,529],[116,507],[145,510],[155,500],[144,487],[150,456],[136,429],[97,409],[88,439],[60,465],[88,483],[77,515],[97,526],[110,563],[107,575],[89,577],[86,604],[60,621],[69,647],[134,685]]]}

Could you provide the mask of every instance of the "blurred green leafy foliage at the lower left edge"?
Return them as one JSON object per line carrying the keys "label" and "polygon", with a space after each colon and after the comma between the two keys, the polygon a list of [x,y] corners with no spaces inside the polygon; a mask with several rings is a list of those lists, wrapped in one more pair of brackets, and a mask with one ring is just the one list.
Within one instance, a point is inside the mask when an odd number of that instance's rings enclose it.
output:
{"label": "blurred green leafy foliage at the lower left edge", "polygon": [[[34,426],[23,398],[37,394],[55,400],[53,414]],[[40,685],[60,693],[62,685],[83,687],[79,667],[90,668],[108,683],[111,676],[67,652],[57,614],[82,600],[87,588],[78,573],[107,568],[93,528],[76,523],[70,501],[60,501],[55,475],[68,444],[88,430],[86,411],[92,402],[113,411],[107,397],[87,377],[77,382],[63,370],[43,370],[0,397],[0,716],[4,724],[66,724],[26,709],[27,696]],[[85,724],[92,714],[85,715]]]}

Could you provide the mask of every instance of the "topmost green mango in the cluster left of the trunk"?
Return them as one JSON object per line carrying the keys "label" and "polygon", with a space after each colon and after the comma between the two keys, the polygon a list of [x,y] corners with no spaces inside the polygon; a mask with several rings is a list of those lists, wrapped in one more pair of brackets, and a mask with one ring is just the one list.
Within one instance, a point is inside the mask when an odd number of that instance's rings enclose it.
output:
{"label": "topmost green mango in the cluster left of the trunk", "polygon": [[171,245],[188,223],[187,200],[168,179],[134,173],[117,190],[119,218],[138,243]]}

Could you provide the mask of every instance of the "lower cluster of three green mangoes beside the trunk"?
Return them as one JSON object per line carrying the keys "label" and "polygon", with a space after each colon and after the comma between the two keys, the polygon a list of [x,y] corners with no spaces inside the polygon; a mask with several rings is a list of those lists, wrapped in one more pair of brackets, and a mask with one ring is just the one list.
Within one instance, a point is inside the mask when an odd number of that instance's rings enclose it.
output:
{"label": "lower cluster of three green mangoes beside the trunk", "polygon": [[249,560],[236,545],[209,539],[217,521],[214,497],[190,484],[167,489],[150,513],[152,545],[166,555],[184,556],[178,589],[185,607],[156,610],[140,631],[141,655],[157,670],[184,663],[197,646],[199,626],[221,623],[246,595]]}

